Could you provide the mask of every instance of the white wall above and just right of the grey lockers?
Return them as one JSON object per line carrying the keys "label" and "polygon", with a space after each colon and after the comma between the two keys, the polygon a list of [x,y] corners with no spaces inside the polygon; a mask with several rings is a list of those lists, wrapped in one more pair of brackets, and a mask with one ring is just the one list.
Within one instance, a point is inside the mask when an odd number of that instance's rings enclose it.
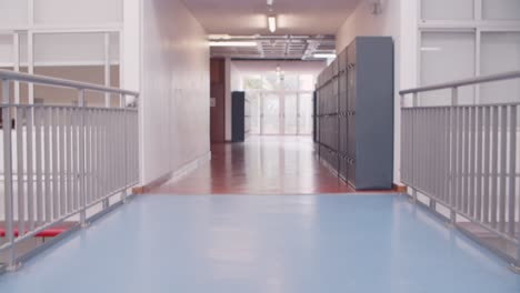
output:
{"label": "white wall above and just right of the grey lockers", "polygon": [[[362,0],[354,12],[346,20],[346,22],[339,28],[337,38],[337,51],[341,52],[352,40],[358,36],[391,36],[394,42],[394,142],[393,142],[393,180],[394,182],[400,181],[400,98],[399,90],[401,89],[401,19],[410,19],[414,16],[403,14],[401,18],[401,9],[407,1],[414,0],[382,0],[381,13],[373,14],[373,7],[370,1]],[[408,40],[407,40],[408,43]],[[413,47],[416,48],[416,47]]]}

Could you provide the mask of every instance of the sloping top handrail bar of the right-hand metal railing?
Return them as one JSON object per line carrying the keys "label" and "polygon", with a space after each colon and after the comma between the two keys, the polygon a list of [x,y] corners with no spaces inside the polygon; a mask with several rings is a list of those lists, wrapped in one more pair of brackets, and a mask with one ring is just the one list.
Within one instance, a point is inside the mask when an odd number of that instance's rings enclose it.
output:
{"label": "sloping top handrail bar of the right-hand metal railing", "polygon": [[453,88],[459,88],[459,87],[464,87],[464,85],[488,83],[488,82],[493,82],[493,81],[502,81],[502,80],[510,80],[510,79],[518,79],[518,78],[520,78],[520,71],[511,71],[511,72],[506,72],[506,73],[491,74],[491,75],[478,77],[478,78],[472,78],[472,79],[464,79],[464,80],[458,80],[458,81],[451,81],[451,82],[446,82],[446,83],[402,90],[399,92],[399,94],[403,95],[403,94],[409,94],[409,93],[453,89]]}

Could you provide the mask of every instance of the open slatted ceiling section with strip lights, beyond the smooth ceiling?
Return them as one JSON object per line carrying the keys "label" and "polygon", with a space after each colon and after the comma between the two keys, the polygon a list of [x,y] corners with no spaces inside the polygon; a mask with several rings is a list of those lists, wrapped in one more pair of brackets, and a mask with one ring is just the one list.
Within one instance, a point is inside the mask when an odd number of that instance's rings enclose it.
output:
{"label": "open slatted ceiling section with strip lights, beyond the smooth ceiling", "polygon": [[[334,36],[209,36],[212,57],[232,59],[322,60],[336,53]],[[253,46],[253,42],[256,46]],[[230,46],[238,43],[240,46]]]}

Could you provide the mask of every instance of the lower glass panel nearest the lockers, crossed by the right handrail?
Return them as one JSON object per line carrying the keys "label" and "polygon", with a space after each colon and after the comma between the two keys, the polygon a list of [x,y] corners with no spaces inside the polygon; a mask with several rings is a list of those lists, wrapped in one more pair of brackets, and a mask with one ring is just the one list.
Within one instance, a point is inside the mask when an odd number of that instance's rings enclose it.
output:
{"label": "lower glass panel nearest the lockers, crossed by the right handrail", "polygon": [[[423,32],[421,43],[421,85],[474,77],[474,32]],[[421,94],[421,104],[446,104],[451,91]],[[460,103],[471,103],[474,88],[459,90]]]}

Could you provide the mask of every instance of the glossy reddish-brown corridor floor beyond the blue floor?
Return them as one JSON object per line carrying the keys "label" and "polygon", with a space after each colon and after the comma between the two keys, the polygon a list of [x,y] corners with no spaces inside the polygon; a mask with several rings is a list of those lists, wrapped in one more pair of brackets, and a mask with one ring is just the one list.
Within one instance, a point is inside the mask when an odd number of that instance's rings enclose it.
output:
{"label": "glossy reddish-brown corridor floor beyond the blue floor", "polygon": [[310,137],[250,137],[214,144],[211,162],[151,193],[312,194],[353,190],[324,168]]}

